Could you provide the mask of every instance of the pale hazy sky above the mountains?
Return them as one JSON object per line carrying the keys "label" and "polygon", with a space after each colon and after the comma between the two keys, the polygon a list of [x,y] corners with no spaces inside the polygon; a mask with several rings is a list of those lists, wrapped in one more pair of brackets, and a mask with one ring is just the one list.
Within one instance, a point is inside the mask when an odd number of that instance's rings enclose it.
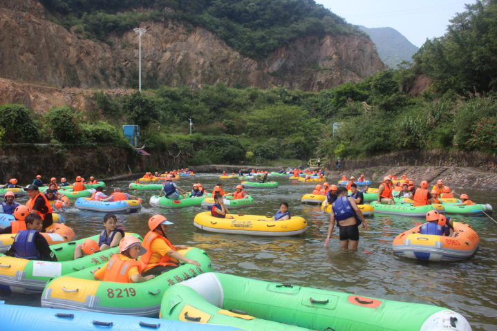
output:
{"label": "pale hazy sky above the mountains", "polygon": [[444,35],[449,19],[476,0],[316,0],[348,23],[366,28],[391,27],[420,47],[426,38]]}

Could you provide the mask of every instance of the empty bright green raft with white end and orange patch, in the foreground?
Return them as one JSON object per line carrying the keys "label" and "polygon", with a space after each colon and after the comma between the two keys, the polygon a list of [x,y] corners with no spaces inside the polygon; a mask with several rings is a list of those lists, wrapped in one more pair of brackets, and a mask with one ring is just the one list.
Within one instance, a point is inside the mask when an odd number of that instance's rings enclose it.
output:
{"label": "empty bright green raft with white end and orange patch, in the foreground", "polygon": [[[470,331],[464,316],[435,305],[208,273],[170,287],[162,319],[248,331]],[[451,328],[453,326],[453,328]]]}

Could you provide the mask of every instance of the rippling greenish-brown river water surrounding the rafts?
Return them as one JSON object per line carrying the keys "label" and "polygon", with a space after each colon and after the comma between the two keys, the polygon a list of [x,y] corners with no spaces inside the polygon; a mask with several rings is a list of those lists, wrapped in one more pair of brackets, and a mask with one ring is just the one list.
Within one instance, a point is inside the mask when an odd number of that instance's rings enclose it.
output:
{"label": "rippling greenish-brown river water surrounding the rafts", "polygon": [[[236,211],[274,214],[279,208],[279,202],[287,201],[292,215],[303,216],[308,220],[306,234],[265,238],[200,231],[194,227],[193,220],[202,209],[151,207],[148,201],[157,193],[155,191],[138,193],[144,200],[144,209],[139,214],[119,215],[118,220],[126,231],[144,236],[149,230],[149,217],[154,214],[165,215],[174,222],[169,227],[170,240],[177,245],[205,249],[216,272],[379,299],[443,306],[463,314],[473,330],[497,330],[497,231],[492,220],[486,216],[453,217],[471,224],[480,236],[480,249],[467,261],[435,263],[394,256],[391,247],[393,238],[418,225],[421,220],[381,214],[368,218],[367,231],[361,228],[357,252],[341,252],[337,229],[328,249],[323,247],[329,215],[321,214],[317,206],[300,202],[302,194],[311,193],[314,185],[292,182],[287,178],[276,180],[279,182],[278,189],[247,189],[256,205]],[[329,181],[337,180],[339,178]],[[239,183],[238,180],[220,180],[218,175],[200,174],[195,178],[182,178],[177,184],[188,190],[194,182],[201,182],[209,191],[218,182],[223,183],[225,191],[233,191]],[[450,186],[450,183],[447,184]],[[109,182],[105,192],[110,193],[113,187],[127,188],[128,185],[129,181]],[[474,202],[490,203],[497,207],[494,194],[482,191],[464,193],[468,193]],[[67,225],[75,229],[77,238],[102,231],[103,214],[82,212],[74,207],[62,211],[62,214]],[[0,300],[10,304],[39,306],[40,296],[0,291]]]}

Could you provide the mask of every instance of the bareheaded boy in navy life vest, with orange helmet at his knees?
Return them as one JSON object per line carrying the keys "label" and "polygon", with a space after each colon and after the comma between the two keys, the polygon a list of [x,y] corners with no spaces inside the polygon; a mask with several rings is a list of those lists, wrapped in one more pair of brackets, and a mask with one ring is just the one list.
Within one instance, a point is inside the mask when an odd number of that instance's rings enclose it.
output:
{"label": "bareheaded boy in navy life vest, with orange helmet at his knees", "polygon": [[118,247],[122,238],[124,238],[124,231],[118,228],[118,218],[114,214],[105,214],[104,228],[98,243],[90,238],[84,240],[82,244],[77,244],[74,249],[74,259],[85,255],[91,255],[97,251],[104,251],[111,247]]}

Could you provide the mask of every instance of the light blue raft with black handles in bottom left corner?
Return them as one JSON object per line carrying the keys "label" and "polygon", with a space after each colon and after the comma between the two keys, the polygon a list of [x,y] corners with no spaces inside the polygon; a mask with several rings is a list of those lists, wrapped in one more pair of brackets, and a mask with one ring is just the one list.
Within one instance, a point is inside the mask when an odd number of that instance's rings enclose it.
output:
{"label": "light blue raft with black handles in bottom left corner", "polygon": [[165,321],[149,317],[5,305],[3,301],[0,301],[0,319],[3,330],[9,331],[242,331],[229,326]]}

